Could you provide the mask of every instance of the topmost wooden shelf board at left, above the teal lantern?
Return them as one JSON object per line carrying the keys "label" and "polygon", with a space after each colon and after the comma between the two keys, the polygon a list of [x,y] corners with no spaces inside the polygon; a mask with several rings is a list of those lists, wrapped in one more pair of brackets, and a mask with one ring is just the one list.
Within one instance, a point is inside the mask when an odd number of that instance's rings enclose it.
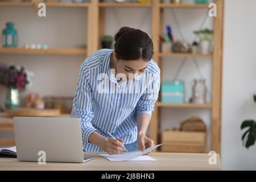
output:
{"label": "topmost wooden shelf board at left, above the teal lantern", "polygon": [[[90,3],[61,3],[61,2],[49,2],[46,3],[48,7],[88,7]],[[0,2],[0,6],[36,6],[32,2]]]}

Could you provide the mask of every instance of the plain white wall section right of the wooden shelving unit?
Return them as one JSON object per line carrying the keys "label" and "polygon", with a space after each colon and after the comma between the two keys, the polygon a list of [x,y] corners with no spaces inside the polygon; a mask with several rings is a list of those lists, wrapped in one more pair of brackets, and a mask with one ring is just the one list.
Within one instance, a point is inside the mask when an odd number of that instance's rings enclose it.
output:
{"label": "plain white wall section right of the wooden shelving unit", "polygon": [[242,121],[256,119],[256,1],[226,0],[222,83],[223,169],[256,169],[256,146],[242,147]]}

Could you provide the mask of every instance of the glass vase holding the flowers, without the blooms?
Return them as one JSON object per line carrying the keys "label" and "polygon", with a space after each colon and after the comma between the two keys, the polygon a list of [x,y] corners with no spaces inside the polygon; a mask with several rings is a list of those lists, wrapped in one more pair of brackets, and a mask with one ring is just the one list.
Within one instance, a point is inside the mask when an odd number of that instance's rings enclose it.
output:
{"label": "glass vase holding the flowers, without the blooms", "polygon": [[20,106],[19,90],[16,88],[9,88],[6,95],[6,109],[16,109]]}

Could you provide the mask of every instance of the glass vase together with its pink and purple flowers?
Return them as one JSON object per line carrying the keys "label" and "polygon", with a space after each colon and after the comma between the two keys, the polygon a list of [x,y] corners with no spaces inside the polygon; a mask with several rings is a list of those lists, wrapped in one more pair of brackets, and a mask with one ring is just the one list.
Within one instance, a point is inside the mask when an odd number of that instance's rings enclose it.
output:
{"label": "glass vase together with its pink and purple flowers", "polygon": [[31,85],[32,72],[16,65],[0,65],[0,84],[7,87],[6,109],[16,109],[20,106],[19,90]]}

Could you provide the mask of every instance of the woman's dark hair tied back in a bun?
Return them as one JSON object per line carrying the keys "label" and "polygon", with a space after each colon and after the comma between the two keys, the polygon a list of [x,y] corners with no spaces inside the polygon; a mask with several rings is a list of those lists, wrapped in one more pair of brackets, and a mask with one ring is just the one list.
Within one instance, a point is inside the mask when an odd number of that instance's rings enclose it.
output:
{"label": "woman's dark hair tied back in a bun", "polygon": [[154,47],[150,36],[141,30],[122,27],[115,34],[114,49],[117,59],[150,61],[154,54]]}

